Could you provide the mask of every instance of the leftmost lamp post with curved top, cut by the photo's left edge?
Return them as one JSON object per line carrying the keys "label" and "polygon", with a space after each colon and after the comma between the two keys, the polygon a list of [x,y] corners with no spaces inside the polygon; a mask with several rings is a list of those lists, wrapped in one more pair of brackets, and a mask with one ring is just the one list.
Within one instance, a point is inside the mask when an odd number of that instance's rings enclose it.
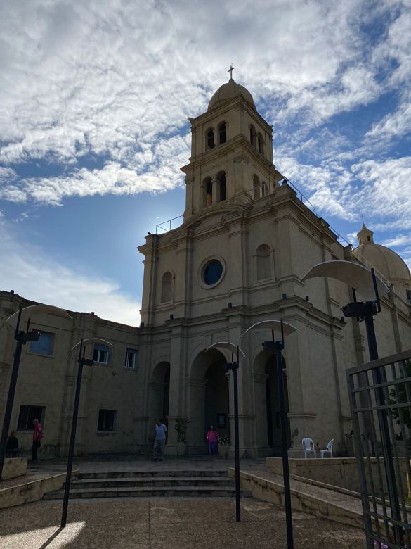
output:
{"label": "leftmost lamp post with curved top, cut by the photo's left edge", "polygon": [[[51,313],[58,317],[64,317],[72,320],[72,317],[69,315],[69,313],[67,313],[67,311],[64,309],[60,309],[59,307],[54,307],[53,305],[30,305],[30,307],[20,307],[20,309],[16,313],[13,313],[13,315],[8,317],[1,325],[1,328],[6,325],[13,327],[14,339],[16,343],[13,368],[11,370],[10,385],[8,386],[6,410],[4,411],[3,429],[1,430],[0,438],[0,480],[1,475],[3,474],[4,458],[6,456],[8,429],[10,429],[11,412],[13,411],[15,387],[17,385],[22,346],[30,341],[39,341],[39,337],[41,335],[40,332],[37,332],[35,330],[32,330],[30,332],[31,317],[32,315],[36,315],[37,313]],[[20,324],[22,324],[22,322],[26,319],[26,329],[20,330]]]}

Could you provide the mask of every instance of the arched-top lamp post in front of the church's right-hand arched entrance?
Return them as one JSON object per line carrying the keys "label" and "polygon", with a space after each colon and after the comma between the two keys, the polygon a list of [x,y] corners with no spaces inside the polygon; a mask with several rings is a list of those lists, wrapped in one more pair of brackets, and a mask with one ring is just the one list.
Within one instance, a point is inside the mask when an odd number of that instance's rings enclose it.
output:
{"label": "arched-top lamp post in front of the church's right-hand arched entrance", "polygon": [[[284,479],[284,498],[285,498],[285,520],[287,524],[287,549],[294,548],[292,534],[292,509],[291,509],[291,491],[289,488],[289,465],[288,465],[288,445],[287,445],[287,410],[285,409],[285,391],[284,379],[282,378],[282,350],[285,347],[285,338],[296,332],[296,327],[282,320],[262,320],[256,322],[247,329],[240,339],[255,328],[267,328],[271,330],[271,341],[263,342],[263,349],[273,351],[277,361],[277,382],[278,396],[280,400],[281,417],[281,450],[282,450],[282,477]],[[275,332],[280,335],[280,339],[275,340]]]}

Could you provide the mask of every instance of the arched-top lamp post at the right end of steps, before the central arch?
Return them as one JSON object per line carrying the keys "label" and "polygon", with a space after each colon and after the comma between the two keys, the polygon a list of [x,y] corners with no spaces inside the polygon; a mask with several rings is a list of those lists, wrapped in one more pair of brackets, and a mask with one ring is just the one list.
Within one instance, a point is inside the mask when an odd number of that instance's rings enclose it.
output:
{"label": "arched-top lamp post at the right end of steps, before the central arch", "polygon": [[[241,520],[241,505],[240,505],[240,434],[238,431],[238,377],[237,370],[240,365],[240,360],[245,358],[244,353],[238,345],[229,341],[218,341],[210,345],[206,349],[217,349],[217,351],[230,351],[231,362],[226,364],[226,370],[233,370],[233,391],[234,391],[234,456],[235,456],[235,520]],[[234,353],[237,355],[237,360],[234,361]]]}

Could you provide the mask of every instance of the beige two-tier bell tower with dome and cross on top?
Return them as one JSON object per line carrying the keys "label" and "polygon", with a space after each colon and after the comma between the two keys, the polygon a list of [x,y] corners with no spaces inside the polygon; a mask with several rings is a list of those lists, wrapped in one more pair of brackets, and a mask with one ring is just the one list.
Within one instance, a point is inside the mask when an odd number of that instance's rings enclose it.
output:
{"label": "beige two-tier bell tower with dome and cross on top", "polygon": [[231,77],[211,97],[207,111],[188,120],[191,157],[181,168],[185,221],[221,202],[244,204],[273,192],[282,179],[273,164],[273,127],[246,88]]}

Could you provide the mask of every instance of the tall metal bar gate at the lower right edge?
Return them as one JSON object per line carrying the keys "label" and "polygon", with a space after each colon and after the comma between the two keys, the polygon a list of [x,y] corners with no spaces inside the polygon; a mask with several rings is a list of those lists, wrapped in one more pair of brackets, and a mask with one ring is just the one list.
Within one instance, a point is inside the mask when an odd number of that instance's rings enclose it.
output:
{"label": "tall metal bar gate at the lower right edge", "polygon": [[367,549],[411,548],[411,349],[347,377]]}

